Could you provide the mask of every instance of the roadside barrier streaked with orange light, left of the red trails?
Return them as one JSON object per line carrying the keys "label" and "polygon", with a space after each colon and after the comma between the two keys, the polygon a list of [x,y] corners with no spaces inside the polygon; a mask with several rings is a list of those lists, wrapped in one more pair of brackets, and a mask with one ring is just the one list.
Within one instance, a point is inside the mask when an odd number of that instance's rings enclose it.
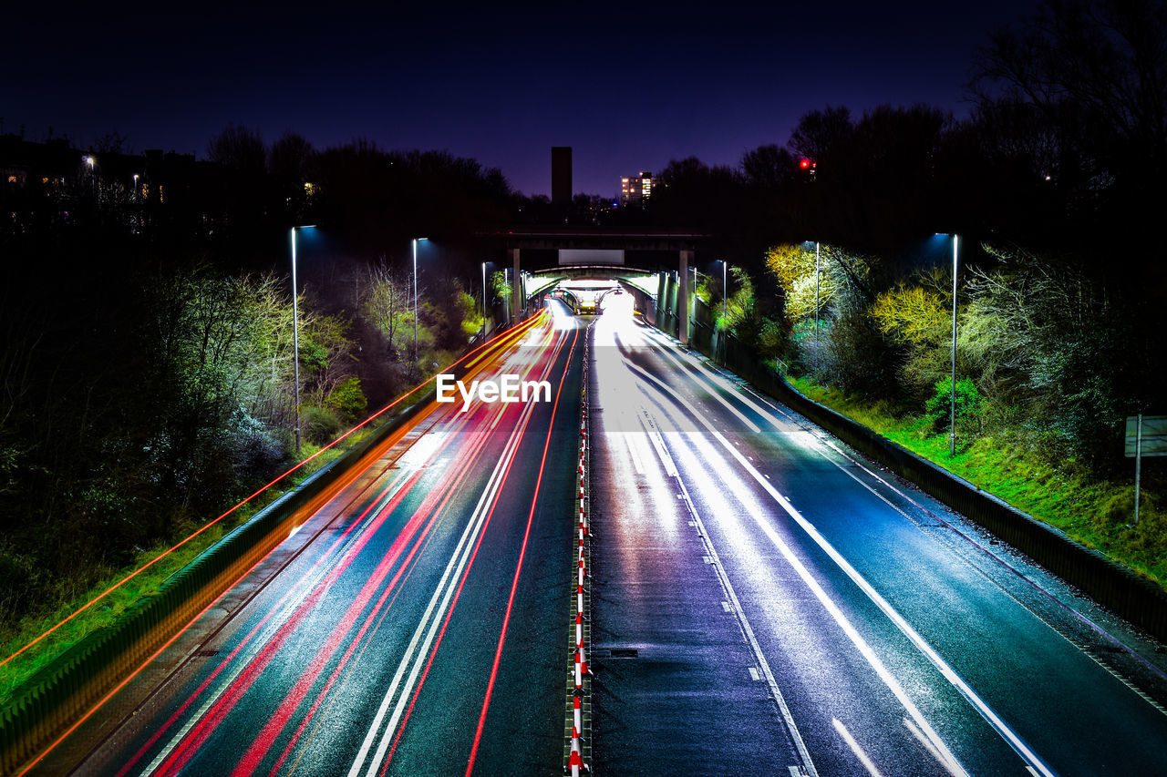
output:
{"label": "roadside barrier streaked with orange light, left of the red trails", "polygon": [[322,505],[330,487],[433,400],[398,411],[364,441],[236,527],[113,625],[90,634],[25,682],[0,713],[0,774],[13,774],[84,715],[196,615],[282,542],[295,513]]}

